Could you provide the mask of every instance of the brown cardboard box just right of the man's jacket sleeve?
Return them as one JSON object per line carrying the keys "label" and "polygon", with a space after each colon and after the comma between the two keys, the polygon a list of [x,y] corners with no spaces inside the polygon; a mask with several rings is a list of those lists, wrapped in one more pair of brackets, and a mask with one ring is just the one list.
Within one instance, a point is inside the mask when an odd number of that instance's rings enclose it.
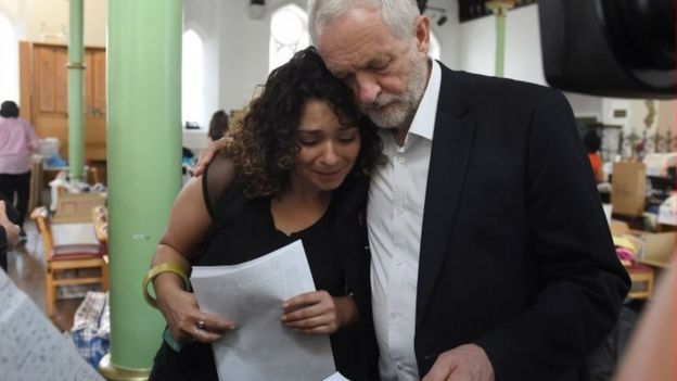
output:
{"label": "brown cardboard box just right of the man's jacket sleeve", "polygon": [[613,213],[641,216],[647,198],[647,166],[644,163],[614,163],[611,180]]}

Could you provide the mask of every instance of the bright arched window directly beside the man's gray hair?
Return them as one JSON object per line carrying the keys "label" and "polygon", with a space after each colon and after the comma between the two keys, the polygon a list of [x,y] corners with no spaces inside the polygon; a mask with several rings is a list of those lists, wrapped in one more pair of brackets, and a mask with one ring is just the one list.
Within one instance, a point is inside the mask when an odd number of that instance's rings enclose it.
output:
{"label": "bright arched window directly beside the man's gray hair", "polygon": [[288,62],[294,53],[309,45],[306,12],[296,4],[280,8],[270,17],[268,72]]}

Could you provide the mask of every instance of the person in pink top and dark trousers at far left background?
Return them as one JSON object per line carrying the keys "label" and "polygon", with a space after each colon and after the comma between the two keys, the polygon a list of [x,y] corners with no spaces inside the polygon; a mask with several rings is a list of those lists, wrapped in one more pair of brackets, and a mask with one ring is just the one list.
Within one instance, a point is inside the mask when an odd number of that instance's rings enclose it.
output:
{"label": "person in pink top and dark trousers at far left background", "polygon": [[[27,120],[18,117],[12,101],[0,105],[0,193],[16,205],[23,225],[28,208],[30,155],[38,148],[38,136]],[[22,236],[25,237],[23,233]]]}

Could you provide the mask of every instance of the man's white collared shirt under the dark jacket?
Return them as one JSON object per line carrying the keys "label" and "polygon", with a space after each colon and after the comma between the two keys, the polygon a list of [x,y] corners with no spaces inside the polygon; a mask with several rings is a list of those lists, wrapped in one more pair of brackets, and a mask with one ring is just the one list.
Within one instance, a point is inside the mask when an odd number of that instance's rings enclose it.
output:
{"label": "man's white collared shirt under the dark jacket", "polygon": [[405,143],[381,130],[387,163],[374,172],[367,224],[371,246],[373,319],[383,381],[419,380],[413,348],[423,206],[442,72],[433,61],[423,99]]}

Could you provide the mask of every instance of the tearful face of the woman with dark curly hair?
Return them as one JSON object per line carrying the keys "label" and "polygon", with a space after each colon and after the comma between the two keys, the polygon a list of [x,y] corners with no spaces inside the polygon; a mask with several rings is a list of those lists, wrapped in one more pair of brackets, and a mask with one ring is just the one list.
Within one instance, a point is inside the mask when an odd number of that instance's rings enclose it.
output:
{"label": "tearful face of the woman with dark curly hair", "polygon": [[291,174],[294,190],[331,191],[353,170],[360,149],[357,126],[342,126],[324,101],[309,100],[302,110],[296,167]]}

